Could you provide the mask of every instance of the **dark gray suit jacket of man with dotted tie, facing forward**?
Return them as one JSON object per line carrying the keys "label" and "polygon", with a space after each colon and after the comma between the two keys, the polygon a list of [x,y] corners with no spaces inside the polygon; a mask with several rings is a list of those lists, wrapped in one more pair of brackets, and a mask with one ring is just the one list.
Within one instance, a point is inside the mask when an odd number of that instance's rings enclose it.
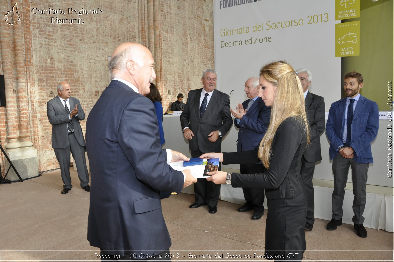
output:
{"label": "dark gray suit jacket of man with dotted tie, facing forward", "polygon": [[188,94],[188,102],[180,115],[182,129],[189,127],[194,137],[189,140],[189,149],[201,152],[221,152],[221,138],[216,142],[208,140],[208,134],[219,130],[224,137],[230,130],[232,118],[230,114],[229,95],[214,90],[212,97],[206,106],[205,113],[200,119],[200,97],[202,88],[191,90]]}

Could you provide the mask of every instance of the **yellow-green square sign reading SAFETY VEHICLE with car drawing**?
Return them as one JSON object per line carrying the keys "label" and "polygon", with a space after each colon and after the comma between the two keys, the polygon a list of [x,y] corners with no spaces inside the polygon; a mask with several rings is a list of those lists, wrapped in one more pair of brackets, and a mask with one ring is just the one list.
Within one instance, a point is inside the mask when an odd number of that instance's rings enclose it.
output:
{"label": "yellow-green square sign reading SAFETY VEHICLE with car drawing", "polygon": [[335,24],[335,57],[360,55],[360,21]]}

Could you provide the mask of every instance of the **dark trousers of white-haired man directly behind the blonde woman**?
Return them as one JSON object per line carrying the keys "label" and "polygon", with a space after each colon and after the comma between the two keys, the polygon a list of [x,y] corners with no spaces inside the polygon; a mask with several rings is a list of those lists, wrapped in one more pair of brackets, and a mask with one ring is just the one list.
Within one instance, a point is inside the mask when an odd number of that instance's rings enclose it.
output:
{"label": "dark trousers of white-haired man directly behind the blonde woman", "polygon": [[307,203],[307,222],[313,225],[315,222],[315,194],[313,189],[313,173],[316,162],[308,162],[304,156],[301,158],[301,177],[304,181],[305,200]]}

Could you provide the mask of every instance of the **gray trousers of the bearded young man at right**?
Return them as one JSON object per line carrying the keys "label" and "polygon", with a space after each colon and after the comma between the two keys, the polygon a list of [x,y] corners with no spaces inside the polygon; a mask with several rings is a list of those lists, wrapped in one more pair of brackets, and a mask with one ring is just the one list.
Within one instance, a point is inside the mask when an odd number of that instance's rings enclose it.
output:
{"label": "gray trousers of the bearded young man at right", "polygon": [[364,223],[366,182],[369,164],[356,163],[354,159],[342,157],[339,153],[333,159],[334,191],[333,191],[333,219],[342,219],[342,204],[345,196],[345,186],[348,180],[349,166],[351,167],[351,178],[353,180],[353,223]]}

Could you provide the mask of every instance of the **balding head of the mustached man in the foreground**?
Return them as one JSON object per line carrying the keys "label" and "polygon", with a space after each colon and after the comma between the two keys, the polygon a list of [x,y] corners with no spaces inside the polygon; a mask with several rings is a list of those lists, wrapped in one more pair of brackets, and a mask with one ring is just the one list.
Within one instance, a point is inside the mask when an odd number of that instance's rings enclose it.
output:
{"label": "balding head of the mustached man in the foreground", "polygon": [[132,83],[140,94],[149,94],[149,82],[156,79],[152,53],[137,43],[120,44],[108,62],[112,78]]}

